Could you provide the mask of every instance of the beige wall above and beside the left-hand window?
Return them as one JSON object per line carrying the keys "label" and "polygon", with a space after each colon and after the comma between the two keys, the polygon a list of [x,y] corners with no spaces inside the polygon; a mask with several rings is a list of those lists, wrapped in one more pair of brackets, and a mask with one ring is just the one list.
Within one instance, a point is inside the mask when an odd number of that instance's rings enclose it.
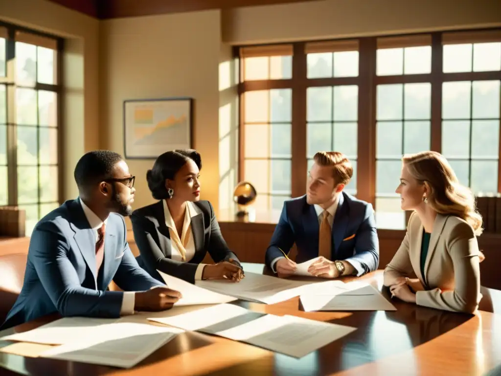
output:
{"label": "beige wall above and beside the left-hand window", "polygon": [[44,0],[0,1],[0,19],[65,38],[63,200],[75,198],[75,164],[99,145],[99,21]]}

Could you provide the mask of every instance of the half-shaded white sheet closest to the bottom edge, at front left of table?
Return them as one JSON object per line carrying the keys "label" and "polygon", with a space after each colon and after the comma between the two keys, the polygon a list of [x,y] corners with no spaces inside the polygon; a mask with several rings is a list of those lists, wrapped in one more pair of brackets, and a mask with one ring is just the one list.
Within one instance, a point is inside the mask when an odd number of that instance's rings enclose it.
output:
{"label": "half-shaded white sheet closest to the bottom edge, at front left of table", "polygon": [[40,356],[130,368],[183,330],[133,322],[117,322],[98,337],[53,347]]}

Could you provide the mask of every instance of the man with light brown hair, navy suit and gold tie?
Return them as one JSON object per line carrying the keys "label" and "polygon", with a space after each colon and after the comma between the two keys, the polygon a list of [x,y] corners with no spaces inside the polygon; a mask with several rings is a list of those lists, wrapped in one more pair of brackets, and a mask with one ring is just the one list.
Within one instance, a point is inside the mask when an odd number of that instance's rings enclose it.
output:
{"label": "man with light brown hair, navy suit and gold tie", "polygon": [[314,156],[305,196],[286,201],[266,251],[266,264],[287,277],[296,262],[286,255],[296,243],[296,261],[314,258],[308,271],[319,277],[361,276],[376,270],[379,241],[372,205],[343,192],[353,175],[348,158],[336,151]]}

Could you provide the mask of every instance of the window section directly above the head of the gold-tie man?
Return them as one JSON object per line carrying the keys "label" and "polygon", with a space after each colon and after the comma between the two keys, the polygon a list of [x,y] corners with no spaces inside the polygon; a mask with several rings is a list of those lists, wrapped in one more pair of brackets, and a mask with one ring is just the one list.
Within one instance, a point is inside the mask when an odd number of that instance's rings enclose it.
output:
{"label": "window section directly above the head of the gold-tie man", "polygon": [[[353,177],[346,192],[356,195],[358,41],[307,43],[305,53],[309,79],[306,89],[308,170],[317,151],[344,153],[353,165]],[[326,84],[330,85],[324,86]]]}

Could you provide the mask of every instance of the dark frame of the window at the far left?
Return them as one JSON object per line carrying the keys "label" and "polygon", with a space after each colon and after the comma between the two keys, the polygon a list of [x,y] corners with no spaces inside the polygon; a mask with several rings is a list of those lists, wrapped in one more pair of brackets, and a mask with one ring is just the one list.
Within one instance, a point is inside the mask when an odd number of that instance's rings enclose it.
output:
{"label": "dark frame of the window at the far left", "polygon": [[[18,26],[15,24],[10,24],[6,22],[0,22],[0,28],[3,28],[7,31],[6,38],[6,76],[0,77],[0,85],[6,86],[6,109],[7,109],[7,179],[8,179],[8,203],[7,206],[18,206],[18,147],[17,147],[17,119],[16,119],[16,88],[29,88],[38,92],[42,91],[50,91],[56,93],[56,127],[48,127],[49,129],[57,129],[57,164],[42,164],[42,166],[57,166],[58,169],[58,205],[63,203],[63,195],[64,195],[64,176],[61,171],[64,169],[64,159],[63,159],[63,51],[64,51],[64,39],[52,35],[49,33],[40,32],[37,30],[25,28],[22,26]],[[55,69],[55,82],[56,84],[44,84],[39,83],[38,81],[35,83],[33,87],[27,85],[18,85],[16,82],[16,33],[29,34],[33,37],[34,40],[37,39],[50,39],[55,43],[57,52],[57,57],[55,63],[57,67]],[[27,42],[28,43],[28,42]],[[12,112],[12,115],[10,113]],[[12,121],[12,119],[15,119]],[[33,127],[37,128],[37,132],[40,129],[39,119],[38,119],[38,101],[37,101],[37,125]],[[40,141],[38,141],[40,142]],[[40,168],[40,151],[38,151],[37,155],[37,168]],[[40,207],[41,205],[46,204],[46,202],[40,200],[40,174],[38,174],[38,198],[37,201],[30,204],[21,204],[21,205],[37,205],[38,207],[38,217],[40,217]],[[51,201],[50,203],[55,203],[56,201]],[[47,204],[50,204],[47,202]]]}

